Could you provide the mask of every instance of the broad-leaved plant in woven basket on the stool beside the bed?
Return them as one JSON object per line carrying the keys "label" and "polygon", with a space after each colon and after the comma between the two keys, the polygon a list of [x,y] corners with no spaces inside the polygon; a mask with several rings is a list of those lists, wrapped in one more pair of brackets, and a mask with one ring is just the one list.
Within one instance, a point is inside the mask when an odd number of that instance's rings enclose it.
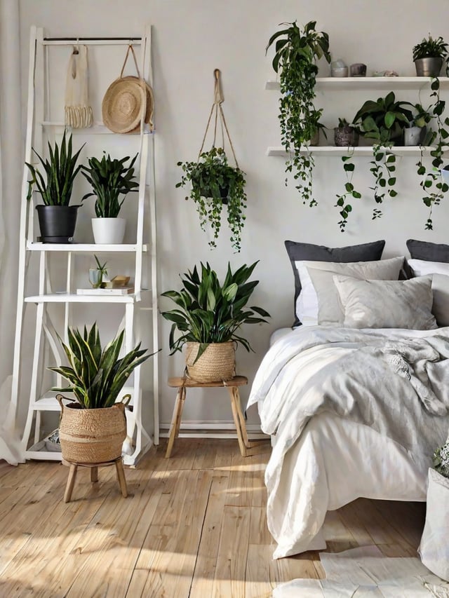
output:
{"label": "broad-leaved plant in woven basket on the stool beside the bed", "polygon": [[[186,346],[186,367],[197,382],[229,380],[235,374],[235,344],[250,351],[249,342],[240,334],[243,324],[266,322],[269,313],[256,306],[247,307],[258,280],[248,282],[257,261],[243,265],[235,272],[228,263],[223,283],[209,264],[201,264],[199,272],[188,271],[182,278],[180,291],[170,290],[162,297],[177,305],[163,311],[163,318],[172,322],[170,355]],[[259,317],[261,316],[261,317]],[[180,336],[175,339],[175,332]]]}

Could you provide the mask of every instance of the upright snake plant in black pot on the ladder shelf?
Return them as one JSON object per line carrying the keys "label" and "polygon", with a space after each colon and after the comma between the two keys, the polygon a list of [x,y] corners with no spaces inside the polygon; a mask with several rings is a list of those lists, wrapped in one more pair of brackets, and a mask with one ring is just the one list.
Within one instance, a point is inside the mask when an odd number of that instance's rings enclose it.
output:
{"label": "upright snake plant in black pot on the ladder shelf", "polygon": [[80,205],[69,205],[73,184],[81,165],[76,165],[83,146],[72,153],[72,134],[67,140],[66,130],[60,146],[48,142],[49,158],[42,158],[33,148],[43,168],[42,174],[35,165],[26,162],[31,179],[28,181],[27,200],[32,198],[34,186],[43,203],[36,205],[43,243],[70,243],[73,239],[76,215]]}

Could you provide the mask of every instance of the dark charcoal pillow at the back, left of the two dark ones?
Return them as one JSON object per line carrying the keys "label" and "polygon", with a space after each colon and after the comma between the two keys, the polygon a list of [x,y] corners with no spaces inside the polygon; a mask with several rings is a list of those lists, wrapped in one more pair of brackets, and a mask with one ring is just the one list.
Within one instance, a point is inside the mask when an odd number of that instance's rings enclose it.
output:
{"label": "dark charcoal pillow at the back, left of the two dark ones", "polygon": [[373,241],[372,243],[362,243],[361,245],[347,245],[347,247],[326,247],[326,245],[314,245],[313,243],[297,243],[295,241],[284,241],[288,258],[295,277],[295,322],[293,326],[299,326],[300,320],[296,315],[296,301],[301,292],[301,280],[298,276],[295,261],[304,259],[311,261],[375,261],[382,257],[385,241]]}

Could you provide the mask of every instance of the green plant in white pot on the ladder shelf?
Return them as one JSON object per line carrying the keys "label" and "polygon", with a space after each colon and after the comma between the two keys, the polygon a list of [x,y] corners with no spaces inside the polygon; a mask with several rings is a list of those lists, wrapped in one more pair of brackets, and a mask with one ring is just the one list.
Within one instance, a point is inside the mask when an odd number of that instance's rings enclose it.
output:
{"label": "green plant in white pot on the ladder shelf", "polygon": [[[137,191],[139,183],[135,181],[134,163],[138,154],[126,165],[130,156],[111,158],[103,152],[101,160],[88,158],[88,167],[81,166],[84,177],[91,184],[91,193],[81,199],[95,197],[95,215],[92,219],[95,243],[123,243],[126,220],[119,218],[119,213],[126,194]],[[123,197],[121,197],[123,196]]]}

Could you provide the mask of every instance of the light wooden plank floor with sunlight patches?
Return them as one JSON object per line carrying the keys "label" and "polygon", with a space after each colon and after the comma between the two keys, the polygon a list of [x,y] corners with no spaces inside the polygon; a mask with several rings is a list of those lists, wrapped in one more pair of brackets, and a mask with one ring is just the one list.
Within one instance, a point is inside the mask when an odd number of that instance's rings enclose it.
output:
{"label": "light wooden plank floor with sunlight patches", "polygon": [[[68,469],[28,461],[0,466],[0,596],[262,598],[294,578],[323,577],[318,552],[272,559],[263,475],[269,444],[242,458],[236,440],[166,442],[91,484],[80,468],[64,503]],[[328,550],[377,544],[416,556],[424,504],[360,498],[329,512]]]}

